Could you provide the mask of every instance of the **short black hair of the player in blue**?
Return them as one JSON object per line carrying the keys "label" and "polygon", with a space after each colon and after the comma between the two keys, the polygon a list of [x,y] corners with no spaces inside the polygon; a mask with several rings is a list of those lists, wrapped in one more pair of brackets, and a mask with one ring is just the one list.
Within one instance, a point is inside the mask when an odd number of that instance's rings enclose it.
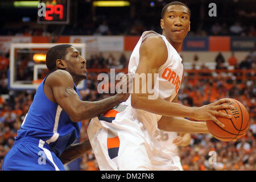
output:
{"label": "short black hair of the player in blue", "polygon": [[53,71],[56,68],[57,59],[65,59],[67,55],[67,48],[71,47],[70,44],[60,44],[57,46],[51,47],[46,53],[46,66],[49,71]]}

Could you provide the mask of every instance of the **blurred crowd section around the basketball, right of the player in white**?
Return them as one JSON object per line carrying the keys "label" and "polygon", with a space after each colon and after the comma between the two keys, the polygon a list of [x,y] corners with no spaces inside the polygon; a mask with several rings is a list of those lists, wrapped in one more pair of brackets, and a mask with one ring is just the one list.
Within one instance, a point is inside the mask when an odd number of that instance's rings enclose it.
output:
{"label": "blurred crowd section around the basketball, right of the player in white", "polygon": [[[192,80],[185,78],[179,100],[187,106],[202,106],[220,98],[234,98],[245,105],[250,127],[237,142],[222,142],[210,134],[192,134],[191,144],[180,147],[184,170],[256,170],[256,81]],[[209,164],[209,151],[216,152],[216,164]]]}

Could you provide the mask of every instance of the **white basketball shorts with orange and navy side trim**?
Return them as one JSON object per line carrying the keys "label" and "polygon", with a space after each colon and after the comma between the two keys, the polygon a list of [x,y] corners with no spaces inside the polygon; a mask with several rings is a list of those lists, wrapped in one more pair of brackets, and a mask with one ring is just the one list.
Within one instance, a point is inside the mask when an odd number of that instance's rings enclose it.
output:
{"label": "white basketball shorts with orange and navy side trim", "polygon": [[100,170],[179,170],[127,106],[93,118],[88,137]]}

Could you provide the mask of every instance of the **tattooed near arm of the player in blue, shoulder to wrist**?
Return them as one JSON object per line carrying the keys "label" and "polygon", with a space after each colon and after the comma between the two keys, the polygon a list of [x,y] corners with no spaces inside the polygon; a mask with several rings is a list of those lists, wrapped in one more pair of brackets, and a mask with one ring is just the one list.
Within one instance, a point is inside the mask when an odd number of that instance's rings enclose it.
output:
{"label": "tattooed near arm of the player in blue, shoulder to wrist", "polygon": [[73,122],[103,114],[129,97],[129,94],[115,94],[115,96],[100,101],[81,101],[74,90],[72,76],[63,70],[51,73],[47,77],[45,86],[52,90],[53,100],[65,110]]}

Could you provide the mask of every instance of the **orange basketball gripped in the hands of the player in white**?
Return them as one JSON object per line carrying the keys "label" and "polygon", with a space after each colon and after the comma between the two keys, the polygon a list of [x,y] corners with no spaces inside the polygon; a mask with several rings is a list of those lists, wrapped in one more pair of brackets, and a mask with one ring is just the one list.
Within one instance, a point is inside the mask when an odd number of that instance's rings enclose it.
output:
{"label": "orange basketball gripped in the hands of the player in white", "polygon": [[232,118],[217,117],[218,121],[223,123],[225,127],[218,126],[213,121],[207,121],[207,127],[213,137],[218,140],[230,142],[233,139],[238,139],[246,133],[249,128],[249,114],[245,109],[245,106],[241,102],[230,98],[230,102],[223,104],[233,105],[236,109],[222,109],[219,110],[222,113],[232,115]]}

